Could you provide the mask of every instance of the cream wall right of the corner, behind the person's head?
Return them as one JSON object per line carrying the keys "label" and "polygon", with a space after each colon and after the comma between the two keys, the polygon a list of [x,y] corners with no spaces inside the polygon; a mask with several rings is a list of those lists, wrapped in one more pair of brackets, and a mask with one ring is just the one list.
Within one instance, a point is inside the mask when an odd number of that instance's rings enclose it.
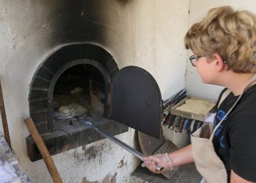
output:
{"label": "cream wall right of the corner, behind the person's head", "polygon": [[[189,3],[189,26],[194,22],[197,22],[213,7],[222,5],[231,5],[235,9],[246,9],[256,14],[256,1],[253,0],[219,0],[219,1],[204,1],[204,0],[190,0]],[[187,58],[191,55],[189,52]],[[188,60],[188,59],[187,59]],[[208,98],[211,100],[217,100],[219,93],[223,87],[215,85],[207,85],[201,82],[201,79],[196,73],[196,68],[191,66],[189,60],[187,62],[187,71],[185,77],[185,83],[188,93],[191,96],[198,96],[201,98]]]}

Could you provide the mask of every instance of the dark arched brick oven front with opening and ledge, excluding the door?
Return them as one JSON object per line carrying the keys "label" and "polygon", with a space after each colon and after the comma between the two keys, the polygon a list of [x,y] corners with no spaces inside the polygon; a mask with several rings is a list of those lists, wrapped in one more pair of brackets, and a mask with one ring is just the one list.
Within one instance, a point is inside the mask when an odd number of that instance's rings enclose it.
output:
{"label": "dark arched brick oven front with opening and ledge, excluding the door", "polygon": [[[29,94],[30,115],[51,155],[103,139],[84,117],[112,135],[128,127],[109,119],[109,85],[119,68],[109,52],[92,44],[61,47],[37,68]],[[28,136],[31,161],[41,159]]]}

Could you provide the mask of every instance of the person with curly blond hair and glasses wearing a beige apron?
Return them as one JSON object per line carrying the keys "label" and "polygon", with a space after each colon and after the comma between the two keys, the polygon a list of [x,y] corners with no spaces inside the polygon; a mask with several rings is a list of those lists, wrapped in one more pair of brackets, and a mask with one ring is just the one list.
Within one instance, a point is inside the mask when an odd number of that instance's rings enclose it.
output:
{"label": "person with curly blond hair and glasses wearing a beige apron", "polygon": [[145,157],[143,165],[161,173],[195,162],[206,182],[256,182],[256,16],[230,6],[211,9],[189,28],[185,47],[194,53],[189,60],[202,82],[225,87],[215,130],[202,137],[204,126],[191,145]]}

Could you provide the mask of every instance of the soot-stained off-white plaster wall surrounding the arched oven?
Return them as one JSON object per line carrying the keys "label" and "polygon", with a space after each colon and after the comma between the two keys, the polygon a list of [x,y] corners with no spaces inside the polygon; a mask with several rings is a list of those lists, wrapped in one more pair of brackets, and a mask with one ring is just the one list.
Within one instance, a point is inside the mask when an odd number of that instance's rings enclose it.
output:
{"label": "soot-stained off-white plaster wall surrounding the arched oven", "polygon": [[[188,0],[0,1],[0,75],[12,146],[32,182],[52,182],[42,160],[26,157],[29,87],[37,67],[63,45],[95,43],[120,68],[141,66],[162,98],[185,87],[183,36]],[[3,129],[1,129],[3,133]],[[136,146],[134,130],[117,136]],[[100,140],[53,156],[63,182],[130,182],[138,160]]]}

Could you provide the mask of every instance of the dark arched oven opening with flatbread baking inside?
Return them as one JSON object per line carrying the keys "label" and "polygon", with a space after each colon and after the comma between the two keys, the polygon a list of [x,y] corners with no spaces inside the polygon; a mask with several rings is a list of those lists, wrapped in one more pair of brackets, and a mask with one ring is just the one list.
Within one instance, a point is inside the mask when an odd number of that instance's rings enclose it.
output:
{"label": "dark arched oven opening with flatbread baking inside", "polygon": [[72,60],[58,70],[48,91],[48,131],[62,121],[86,117],[109,117],[107,70],[95,60]]}

